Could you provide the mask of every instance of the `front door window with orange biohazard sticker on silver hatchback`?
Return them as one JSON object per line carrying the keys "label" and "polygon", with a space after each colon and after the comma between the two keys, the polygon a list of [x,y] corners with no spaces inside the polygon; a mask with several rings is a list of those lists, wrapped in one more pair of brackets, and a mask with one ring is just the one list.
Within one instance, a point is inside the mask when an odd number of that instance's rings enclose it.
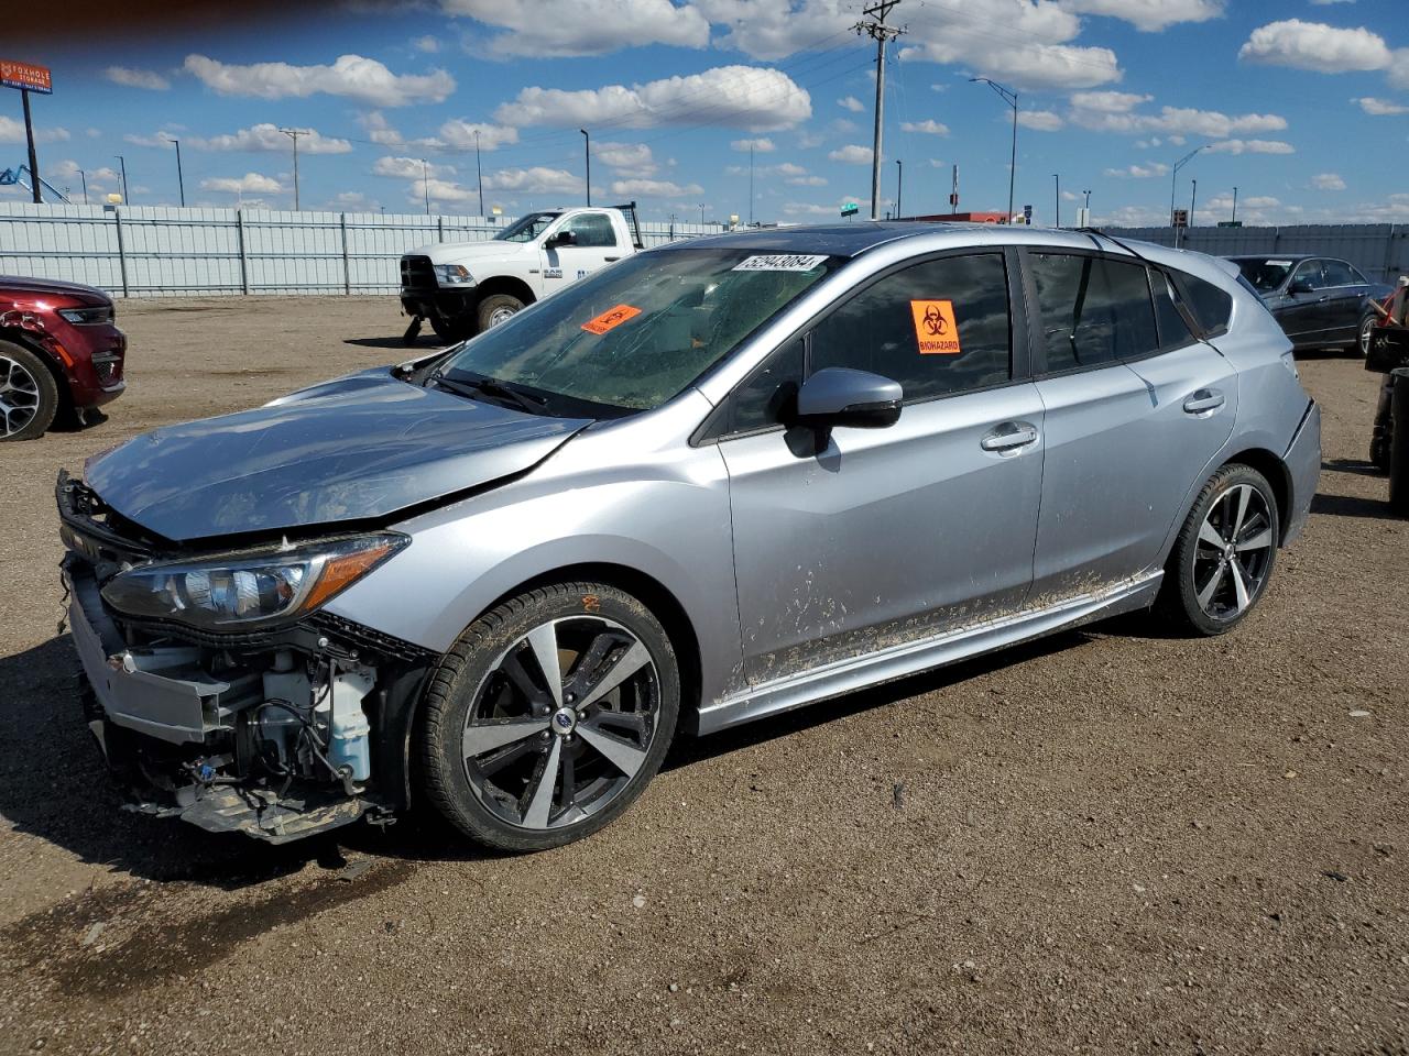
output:
{"label": "front door window with orange biohazard sticker on silver hatchback", "polygon": [[899,382],[907,401],[1007,382],[1003,255],[943,256],[874,282],[813,328],[810,370],[828,366]]}

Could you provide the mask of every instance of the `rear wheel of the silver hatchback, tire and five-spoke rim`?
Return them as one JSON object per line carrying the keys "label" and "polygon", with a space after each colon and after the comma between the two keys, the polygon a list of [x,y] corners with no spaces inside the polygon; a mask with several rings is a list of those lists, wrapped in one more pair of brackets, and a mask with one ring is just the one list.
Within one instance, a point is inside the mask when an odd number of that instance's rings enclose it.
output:
{"label": "rear wheel of the silver hatchback, tire and five-spoke rim", "polygon": [[1157,608],[1196,635],[1231,631],[1262,597],[1277,563],[1281,522],[1267,477],[1227,465],[1199,491],[1165,567]]}

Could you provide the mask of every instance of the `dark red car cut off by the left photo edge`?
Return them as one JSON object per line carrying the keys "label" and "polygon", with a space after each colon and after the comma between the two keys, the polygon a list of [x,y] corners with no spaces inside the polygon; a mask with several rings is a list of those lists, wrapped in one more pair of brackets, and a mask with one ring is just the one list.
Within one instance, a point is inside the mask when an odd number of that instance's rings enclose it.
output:
{"label": "dark red car cut off by the left photo edge", "polygon": [[123,394],[127,337],[92,286],[0,276],[0,441],[41,435],[58,414]]}

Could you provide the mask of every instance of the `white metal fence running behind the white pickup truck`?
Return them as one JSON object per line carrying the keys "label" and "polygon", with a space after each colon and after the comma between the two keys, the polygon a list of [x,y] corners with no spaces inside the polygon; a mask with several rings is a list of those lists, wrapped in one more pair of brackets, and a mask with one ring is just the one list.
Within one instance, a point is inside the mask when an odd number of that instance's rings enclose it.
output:
{"label": "white metal fence running behind the white pickup truck", "polygon": [[[396,293],[402,253],[478,242],[511,217],[0,203],[0,273],[116,297]],[[717,224],[641,224],[647,245]]]}

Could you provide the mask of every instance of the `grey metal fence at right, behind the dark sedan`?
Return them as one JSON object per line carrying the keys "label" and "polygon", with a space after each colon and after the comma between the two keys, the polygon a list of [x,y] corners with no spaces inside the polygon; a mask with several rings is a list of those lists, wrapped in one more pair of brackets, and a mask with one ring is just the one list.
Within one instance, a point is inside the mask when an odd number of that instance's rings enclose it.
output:
{"label": "grey metal fence at right, behind the dark sedan", "polygon": [[[1116,238],[1174,245],[1171,227],[1109,228]],[[1295,227],[1192,227],[1185,249],[1213,256],[1316,253],[1348,260],[1371,282],[1394,283],[1409,272],[1409,227],[1401,224],[1298,224]]]}

